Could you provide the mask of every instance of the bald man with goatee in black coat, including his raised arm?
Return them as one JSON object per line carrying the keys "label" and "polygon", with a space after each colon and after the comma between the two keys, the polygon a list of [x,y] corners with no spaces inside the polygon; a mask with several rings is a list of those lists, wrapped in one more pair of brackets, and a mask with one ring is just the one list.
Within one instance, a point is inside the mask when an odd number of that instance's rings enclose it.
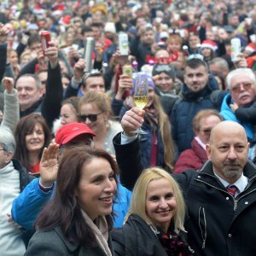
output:
{"label": "bald man with goatee in black coat, including his raised arm", "polygon": [[[126,112],[124,131],[113,138],[121,182],[130,189],[131,179],[135,182],[142,171],[139,140],[133,133],[143,123],[142,114],[137,108]],[[209,160],[200,172],[173,176],[183,189],[188,209],[185,228],[196,256],[256,253],[256,166],[247,160],[248,148],[241,125],[220,122],[212,129]]]}

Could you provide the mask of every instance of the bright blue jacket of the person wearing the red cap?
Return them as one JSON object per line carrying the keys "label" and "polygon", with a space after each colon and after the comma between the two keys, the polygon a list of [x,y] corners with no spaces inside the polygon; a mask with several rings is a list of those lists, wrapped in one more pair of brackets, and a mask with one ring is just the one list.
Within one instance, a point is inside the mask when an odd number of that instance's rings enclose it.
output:
{"label": "bright blue jacket of the person wearing the red cap", "polygon": [[[33,229],[38,214],[54,194],[54,189],[47,193],[43,192],[38,183],[39,178],[32,180],[13,202],[12,217],[16,223],[27,230]],[[116,213],[113,222],[114,227],[123,225],[125,215],[130,207],[130,201],[131,191],[118,183],[118,199],[113,204],[113,211]]]}

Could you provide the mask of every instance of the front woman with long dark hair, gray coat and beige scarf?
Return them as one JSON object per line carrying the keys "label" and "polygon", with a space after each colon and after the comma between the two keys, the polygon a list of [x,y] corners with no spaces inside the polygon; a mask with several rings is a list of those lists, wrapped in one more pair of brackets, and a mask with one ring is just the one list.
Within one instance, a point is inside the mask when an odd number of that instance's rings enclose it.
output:
{"label": "front woman with long dark hair, gray coat and beige scarf", "polygon": [[116,162],[102,149],[73,148],[64,154],[55,195],[40,213],[25,255],[113,255],[109,230],[117,173]]}

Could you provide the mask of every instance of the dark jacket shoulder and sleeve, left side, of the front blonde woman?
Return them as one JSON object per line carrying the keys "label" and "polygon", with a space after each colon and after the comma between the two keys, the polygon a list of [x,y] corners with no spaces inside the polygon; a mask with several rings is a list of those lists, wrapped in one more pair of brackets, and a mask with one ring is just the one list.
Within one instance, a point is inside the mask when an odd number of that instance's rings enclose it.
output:
{"label": "dark jacket shoulder and sleeve, left side, of the front blonde woman", "polygon": [[125,225],[112,231],[115,256],[167,256],[158,237],[137,214],[132,214]]}

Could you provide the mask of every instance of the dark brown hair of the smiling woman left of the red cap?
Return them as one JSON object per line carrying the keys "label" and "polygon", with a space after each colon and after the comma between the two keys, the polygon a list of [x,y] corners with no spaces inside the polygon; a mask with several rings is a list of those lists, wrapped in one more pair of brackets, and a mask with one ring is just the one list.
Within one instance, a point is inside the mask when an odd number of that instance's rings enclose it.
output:
{"label": "dark brown hair of the smiling woman left of the red cap", "polygon": [[39,124],[42,125],[44,131],[44,146],[41,148],[38,155],[39,160],[43,154],[44,148],[48,147],[51,134],[49,128],[45,122],[45,119],[39,113],[31,113],[21,118],[15,129],[15,141],[16,141],[16,151],[15,159],[20,160],[21,164],[26,167],[27,171],[30,171],[31,167],[29,165],[28,155],[29,152],[26,148],[26,135],[32,131],[35,126]]}

